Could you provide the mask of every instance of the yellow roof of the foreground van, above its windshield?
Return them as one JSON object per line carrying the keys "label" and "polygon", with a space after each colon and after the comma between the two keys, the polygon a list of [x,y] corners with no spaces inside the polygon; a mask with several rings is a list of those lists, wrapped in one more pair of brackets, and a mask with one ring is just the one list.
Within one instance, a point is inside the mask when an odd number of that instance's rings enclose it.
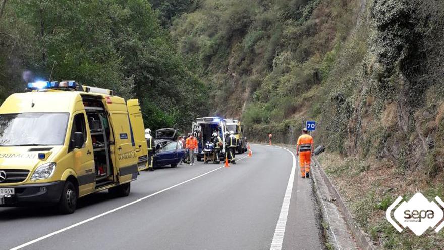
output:
{"label": "yellow roof of the foreground van, above its windshield", "polygon": [[[83,91],[44,90],[10,95],[0,106],[0,113],[71,112],[81,95],[105,97],[109,95]],[[109,96],[113,103],[124,103],[121,97]]]}

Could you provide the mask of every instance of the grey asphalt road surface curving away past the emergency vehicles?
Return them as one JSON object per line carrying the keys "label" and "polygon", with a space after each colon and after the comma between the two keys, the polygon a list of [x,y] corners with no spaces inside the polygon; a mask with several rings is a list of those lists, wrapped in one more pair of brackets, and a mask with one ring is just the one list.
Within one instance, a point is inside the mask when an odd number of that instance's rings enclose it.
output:
{"label": "grey asphalt road surface curving away past the emergency vehicles", "polygon": [[[252,149],[229,168],[197,162],[142,172],[129,197],[92,194],[72,215],[0,208],[0,249],[270,249],[282,234],[275,229],[293,156]],[[312,180],[295,173],[282,249],[324,249]]]}

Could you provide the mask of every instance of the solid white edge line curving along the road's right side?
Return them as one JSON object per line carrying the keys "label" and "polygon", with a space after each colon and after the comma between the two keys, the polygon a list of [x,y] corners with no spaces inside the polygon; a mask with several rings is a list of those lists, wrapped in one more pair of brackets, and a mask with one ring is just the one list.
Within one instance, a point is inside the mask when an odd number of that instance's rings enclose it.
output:
{"label": "solid white edge line curving along the road's right side", "polygon": [[290,154],[293,157],[293,165],[292,165],[292,170],[290,172],[290,177],[288,179],[287,190],[285,191],[284,201],[282,202],[281,213],[279,214],[278,224],[276,224],[276,229],[274,230],[274,236],[270,246],[270,250],[281,250],[282,243],[284,242],[284,234],[285,234],[285,227],[287,226],[288,210],[290,208],[290,199],[293,190],[293,183],[295,180],[296,157],[295,154],[293,154],[293,152],[291,152],[287,148],[278,147],[278,146],[275,147],[285,149],[286,151],[290,152]]}

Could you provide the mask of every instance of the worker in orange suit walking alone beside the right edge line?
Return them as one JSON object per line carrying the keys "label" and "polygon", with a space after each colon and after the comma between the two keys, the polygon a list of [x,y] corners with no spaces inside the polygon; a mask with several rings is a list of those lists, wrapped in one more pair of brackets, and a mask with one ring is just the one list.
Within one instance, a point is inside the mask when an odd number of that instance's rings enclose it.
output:
{"label": "worker in orange suit walking alone beside the right edge line", "polygon": [[307,128],[302,129],[302,135],[298,138],[296,156],[299,156],[301,177],[310,177],[310,163],[311,157],[313,156],[313,137],[308,134]]}

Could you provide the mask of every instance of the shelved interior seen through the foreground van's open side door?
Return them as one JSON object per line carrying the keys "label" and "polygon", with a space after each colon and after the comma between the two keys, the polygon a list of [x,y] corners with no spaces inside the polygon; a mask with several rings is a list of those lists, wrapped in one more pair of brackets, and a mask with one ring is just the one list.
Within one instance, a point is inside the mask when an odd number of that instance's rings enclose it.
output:
{"label": "shelved interior seen through the foreground van's open side door", "polygon": [[82,96],[88,119],[95,165],[96,188],[114,182],[112,161],[110,160],[110,127],[101,99]]}

